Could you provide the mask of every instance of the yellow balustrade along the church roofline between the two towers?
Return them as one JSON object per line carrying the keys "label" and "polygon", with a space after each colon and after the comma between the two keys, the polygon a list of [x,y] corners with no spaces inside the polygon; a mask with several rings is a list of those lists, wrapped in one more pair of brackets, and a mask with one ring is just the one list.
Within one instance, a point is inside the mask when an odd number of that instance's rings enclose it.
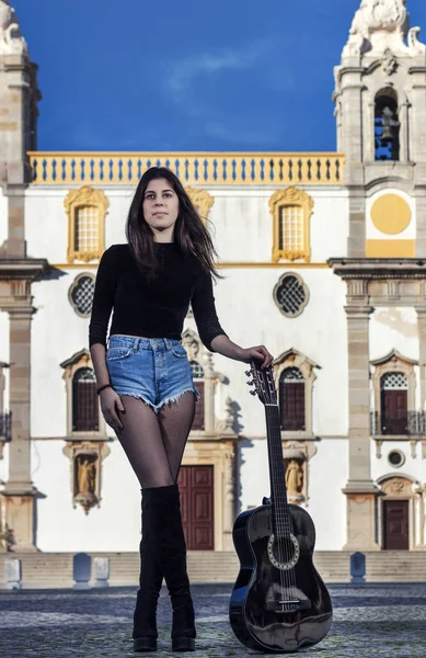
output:
{"label": "yellow balustrade along the church roofline between the two towers", "polygon": [[184,185],[343,184],[342,154],[28,152],[34,185],[135,185],[169,167]]}

